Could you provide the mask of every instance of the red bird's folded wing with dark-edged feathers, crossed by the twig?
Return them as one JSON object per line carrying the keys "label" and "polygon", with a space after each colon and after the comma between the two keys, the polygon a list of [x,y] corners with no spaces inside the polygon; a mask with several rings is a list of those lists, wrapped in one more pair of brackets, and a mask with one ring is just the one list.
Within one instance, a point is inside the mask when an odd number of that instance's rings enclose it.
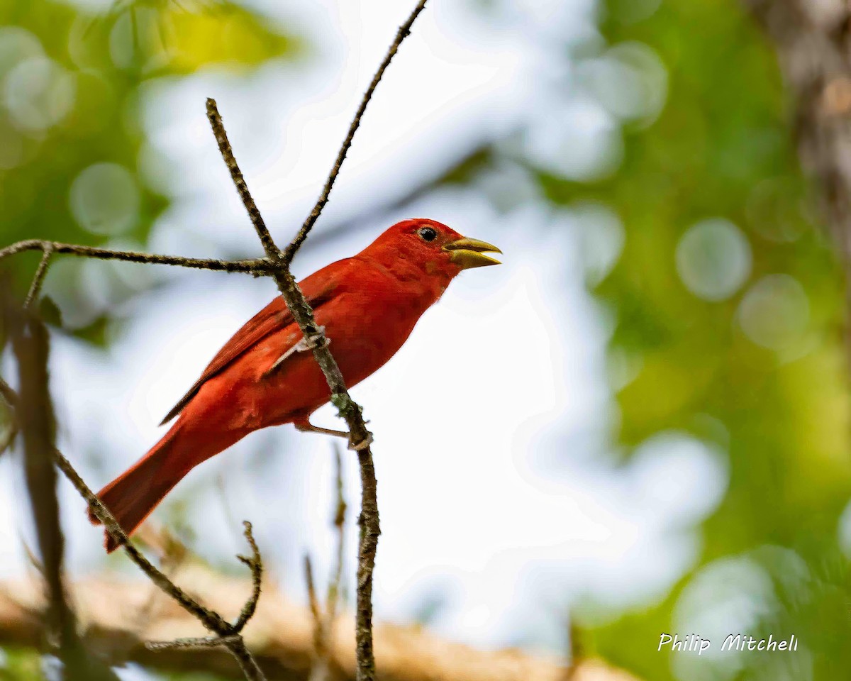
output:
{"label": "red bird's folded wing with dark-edged feathers, crossed by the twig", "polygon": [[[339,280],[338,275],[341,269],[340,262],[335,262],[332,265],[323,267],[323,269],[315,272],[300,283],[302,292],[305,294],[307,302],[310,303],[314,311],[334,294],[334,290],[336,289],[335,284]],[[168,421],[171,421],[176,415],[180,414],[186,407],[186,404],[196,396],[206,381],[218,374],[222,369],[225,369],[226,366],[248,351],[248,349],[260,343],[267,335],[283,329],[293,322],[292,313],[289,312],[283,298],[277,295],[275,300],[272,300],[269,305],[250,318],[243,325],[243,328],[239,329],[236,334],[231,336],[231,340],[222,346],[221,350],[216,353],[216,356],[207,365],[207,369],[204,369],[201,377],[195,381],[186,392],[186,395],[180,398],[180,401],[174,405],[163,421],[160,422],[160,426],[164,426]]]}

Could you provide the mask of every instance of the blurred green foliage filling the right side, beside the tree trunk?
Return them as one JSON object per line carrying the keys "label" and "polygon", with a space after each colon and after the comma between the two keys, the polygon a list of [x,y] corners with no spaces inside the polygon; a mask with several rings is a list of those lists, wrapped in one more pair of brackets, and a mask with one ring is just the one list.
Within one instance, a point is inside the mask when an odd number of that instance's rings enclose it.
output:
{"label": "blurred green foliage filling the right side, beside the tree trunk", "polygon": [[[774,51],[733,0],[613,0],[600,30],[608,44],[574,45],[579,87],[620,121],[622,157],[595,181],[536,175],[551,203],[620,220],[620,257],[591,282],[614,318],[620,450],[686,432],[726,453],[728,488],[688,574],[661,603],[587,627],[584,647],[654,680],[847,678],[843,280]],[[661,632],[700,623],[795,634],[801,650],[656,651]]]}

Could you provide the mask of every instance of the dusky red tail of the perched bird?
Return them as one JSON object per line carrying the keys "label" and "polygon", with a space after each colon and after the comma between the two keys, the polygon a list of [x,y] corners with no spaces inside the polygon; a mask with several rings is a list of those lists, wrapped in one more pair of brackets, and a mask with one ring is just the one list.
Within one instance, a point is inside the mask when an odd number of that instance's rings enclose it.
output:
{"label": "dusky red tail of the perched bird", "polygon": [[[195,457],[192,461],[181,461],[187,459],[187,452],[186,447],[176,446],[182,439],[179,436],[180,421],[146,455],[98,492],[100,501],[128,535],[134,533],[174,485],[200,462]],[[100,524],[91,509],[89,520],[92,524]],[[104,535],[106,552],[115,551],[117,541],[109,532],[105,531]]]}

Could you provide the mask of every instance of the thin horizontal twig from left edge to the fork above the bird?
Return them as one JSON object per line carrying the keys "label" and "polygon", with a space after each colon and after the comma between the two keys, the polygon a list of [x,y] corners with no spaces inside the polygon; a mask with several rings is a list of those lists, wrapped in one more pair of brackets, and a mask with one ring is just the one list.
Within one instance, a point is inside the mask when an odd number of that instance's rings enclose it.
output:
{"label": "thin horizontal twig from left edge to the fork above the bird", "polygon": [[[124,262],[138,262],[146,265],[191,267],[196,270],[214,270],[215,272],[246,272],[253,274],[255,277],[269,274],[270,271],[270,264],[265,258],[254,260],[186,258],[182,255],[157,255],[153,253],[140,253],[133,250],[97,249],[93,246],[80,246],[75,243],[61,243],[58,241],[46,241],[44,239],[27,239],[26,241],[13,243],[5,249],[0,249],[0,260],[26,250],[40,250],[43,253],[52,250],[54,254],[58,255],[77,255],[83,258],[95,258],[97,260],[123,260]],[[38,276],[38,272],[36,276]]]}

